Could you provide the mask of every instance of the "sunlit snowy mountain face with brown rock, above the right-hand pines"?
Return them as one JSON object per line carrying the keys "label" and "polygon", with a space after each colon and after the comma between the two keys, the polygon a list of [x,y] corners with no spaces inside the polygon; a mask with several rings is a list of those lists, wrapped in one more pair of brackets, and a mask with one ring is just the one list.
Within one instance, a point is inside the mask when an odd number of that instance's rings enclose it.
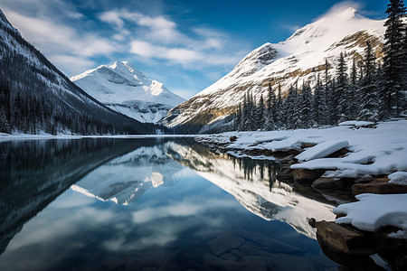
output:
{"label": "sunlit snowy mountain face with brown rock, above the right-hand pines", "polygon": [[340,52],[345,52],[347,66],[353,58],[360,60],[365,44],[371,42],[377,57],[383,57],[383,21],[368,19],[353,8],[327,14],[314,23],[298,29],[289,39],[266,43],[251,51],[222,79],[172,109],[164,123],[167,126],[204,126],[236,111],[247,90],[258,100],[266,95],[269,82],[281,84],[283,96],[291,85],[316,83],[317,74],[335,73]]}

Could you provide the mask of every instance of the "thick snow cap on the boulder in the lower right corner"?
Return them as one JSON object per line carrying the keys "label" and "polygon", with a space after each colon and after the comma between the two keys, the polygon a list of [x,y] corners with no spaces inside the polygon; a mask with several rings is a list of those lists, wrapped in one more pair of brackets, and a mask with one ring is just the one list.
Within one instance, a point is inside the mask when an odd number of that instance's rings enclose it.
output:
{"label": "thick snow cap on the boulder in the lower right corner", "polygon": [[341,204],[335,214],[346,214],[336,223],[350,223],[358,229],[374,231],[384,226],[407,230],[407,194],[360,194],[359,201]]}

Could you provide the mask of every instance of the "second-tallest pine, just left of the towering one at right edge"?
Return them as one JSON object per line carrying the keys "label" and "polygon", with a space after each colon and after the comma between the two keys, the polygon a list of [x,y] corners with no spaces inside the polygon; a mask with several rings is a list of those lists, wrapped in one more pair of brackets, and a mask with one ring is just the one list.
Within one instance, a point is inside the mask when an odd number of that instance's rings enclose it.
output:
{"label": "second-tallest pine, just left of the towering one at right edge", "polygon": [[359,112],[359,119],[366,121],[377,121],[379,118],[374,61],[372,45],[370,42],[367,42],[366,49],[364,50],[364,79],[361,84],[363,101],[362,109]]}

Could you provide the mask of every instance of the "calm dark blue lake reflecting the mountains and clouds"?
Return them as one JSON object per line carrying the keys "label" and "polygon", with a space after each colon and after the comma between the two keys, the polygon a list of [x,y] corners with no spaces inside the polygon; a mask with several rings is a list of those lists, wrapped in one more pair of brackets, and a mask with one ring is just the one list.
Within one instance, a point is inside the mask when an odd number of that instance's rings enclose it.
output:
{"label": "calm dark blue lake reflecting the mountains and clouds", "polygon": [[0,270],[337,270],[308,225],[335,203],[279,166],[192,138],[0,142]]}

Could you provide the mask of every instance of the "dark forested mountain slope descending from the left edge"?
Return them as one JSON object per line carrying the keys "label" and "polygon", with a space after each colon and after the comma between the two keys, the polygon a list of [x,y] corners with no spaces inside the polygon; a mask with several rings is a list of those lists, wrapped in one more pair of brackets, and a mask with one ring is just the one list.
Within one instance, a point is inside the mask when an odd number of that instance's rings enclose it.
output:
{"label": "dark forested mountain slope descending from the left edge", "polygon": [[99,103],[58,70],[0,10],[0,132],[56,135],[154,134]]}

